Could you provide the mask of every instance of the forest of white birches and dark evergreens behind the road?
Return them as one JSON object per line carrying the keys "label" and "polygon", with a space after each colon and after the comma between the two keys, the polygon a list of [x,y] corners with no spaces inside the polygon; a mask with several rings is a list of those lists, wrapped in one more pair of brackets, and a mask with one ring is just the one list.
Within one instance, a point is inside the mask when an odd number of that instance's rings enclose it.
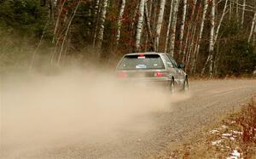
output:
{"label": "forest of white birches and dark evergreens behind the road", "polygon": [[132,52],[172,54],[190,76],[252,75],[255,0],[0,0],[0,68],[38,71]]}

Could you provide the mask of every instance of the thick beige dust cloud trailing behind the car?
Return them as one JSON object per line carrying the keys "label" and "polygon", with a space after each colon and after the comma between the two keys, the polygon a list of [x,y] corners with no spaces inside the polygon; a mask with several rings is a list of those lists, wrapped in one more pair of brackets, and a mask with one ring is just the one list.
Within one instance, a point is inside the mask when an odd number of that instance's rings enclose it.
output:
{"label": "thick beige dust cloud trailing behind the car", "polygon": [[0,157],[145,133],[155,128],[150,114],[172,111],[173,102],[187,98],[119,82],[113,73],[78,70],[2,80]]}

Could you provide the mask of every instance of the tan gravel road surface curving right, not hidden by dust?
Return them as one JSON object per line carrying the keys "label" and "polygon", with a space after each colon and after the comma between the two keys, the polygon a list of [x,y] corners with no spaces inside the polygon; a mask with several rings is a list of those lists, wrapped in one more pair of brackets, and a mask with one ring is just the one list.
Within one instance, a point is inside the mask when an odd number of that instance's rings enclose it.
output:
{"label": "tan gravel road surface curving right, not hidden by dust", "polygon": [[[160,150],[165,150],[167,147],[172,149],[172,145],[201,132],[202,128],[208,124],[218,121],[219,117],[238,109],[240,104],[250,99],[254,94],[256,94],[256,80],[190,82],[188,98],[175,101],[170,104],[166,111],[154,111],[146,115],[135,116],[137,124],[134,124],[134,127],[136,128],[133,128],[132,122],[131,125],[127,123],[122,128],[116,128],[119,133],[108,132],[108,129],[102,128],[102,130],[98,130],[99,133],[105,134],[102,138],[99,135],[98,138],[90,139],[90,133],[84,133],[85,137],[81,133],[75,141],[68,144],[61,142],[54,146],[45,144],[40,149],[35,150],[17,150],[18,146],[2,145],[1,157],[154,157]],[[174,95],[172,98],[176,97]],[[12,153],[13,151],[15,151],[15,155]]]}

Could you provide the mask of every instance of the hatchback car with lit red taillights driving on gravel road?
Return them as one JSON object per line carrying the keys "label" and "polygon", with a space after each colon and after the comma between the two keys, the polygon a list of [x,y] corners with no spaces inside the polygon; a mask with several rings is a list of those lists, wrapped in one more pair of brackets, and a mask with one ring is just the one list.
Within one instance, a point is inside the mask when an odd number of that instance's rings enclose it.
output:
{"label": "hatchback car with lit red taillights driving on gravel road", "polygon": [[125,54],[116,68],[116,75],[129,82],[158,82],[172,93],[189,90],[184,65],[177,65],[171,54],[133,53]]}

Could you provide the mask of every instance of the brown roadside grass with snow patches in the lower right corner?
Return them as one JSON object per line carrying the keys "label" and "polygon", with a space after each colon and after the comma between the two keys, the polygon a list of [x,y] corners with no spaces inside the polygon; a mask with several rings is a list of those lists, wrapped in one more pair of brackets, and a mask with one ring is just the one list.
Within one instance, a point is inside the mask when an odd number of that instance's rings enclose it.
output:
{"label": "brown roadside grass with snow patches in the lower right corner", "polygon": [[256,96],[204,134],[156,158],[256,158]]}

